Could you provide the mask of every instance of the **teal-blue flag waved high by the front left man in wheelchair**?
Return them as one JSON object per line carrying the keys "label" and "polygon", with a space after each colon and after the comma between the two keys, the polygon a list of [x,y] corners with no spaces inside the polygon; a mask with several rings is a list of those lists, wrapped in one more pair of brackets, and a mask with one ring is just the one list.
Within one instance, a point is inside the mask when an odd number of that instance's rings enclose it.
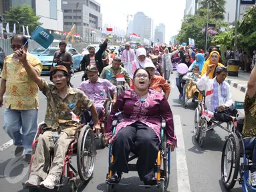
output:
{"label": "teal-blue flag waved high by the front left man in wheelchair", "polygon": [[39,45],[47,49],[49,45],[51,45],[51,43],[53,42],[54,37],[46,29],[38,26],[37,29],[35,29],[35,31],[32,33],[30,39],[33,39]]}

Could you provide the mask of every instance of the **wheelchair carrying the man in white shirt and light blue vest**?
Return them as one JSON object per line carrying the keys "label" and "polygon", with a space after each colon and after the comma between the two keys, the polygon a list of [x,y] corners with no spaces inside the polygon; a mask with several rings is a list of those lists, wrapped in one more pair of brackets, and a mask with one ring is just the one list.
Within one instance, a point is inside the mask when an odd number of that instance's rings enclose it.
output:
{"label": "wheelchair carrying the man in white shirt and light blue vest", "polygon": [[[207,131],[220,127],[221,129],[227,131],[230,134],[233,133],[233,125],[236,121],[236,118],[233,117],[233,121],[227,122],[227,127],[223,127],[224,122],[217,121],[214,119],[212,115],[207,114],[205,111],[205,99],[203,101],[199,101],[199,105],[195,109],[195,118],[194,118],[194,135],[195,139],[199,142],[200,147],[203,147],[203,143],[205,141],[205,137],[207,135]],[[237,101],[236,101],[237,102]],[[235,105],[235,109],[238,109]],[[238,115],[235,115],[238,117]],[[208,126],[208,122],[211,122],[212,125]]]}

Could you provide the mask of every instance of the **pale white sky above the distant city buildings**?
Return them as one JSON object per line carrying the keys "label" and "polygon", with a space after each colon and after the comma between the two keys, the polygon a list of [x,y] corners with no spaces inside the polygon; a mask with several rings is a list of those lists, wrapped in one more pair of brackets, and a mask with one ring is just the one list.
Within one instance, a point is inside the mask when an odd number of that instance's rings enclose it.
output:
{"label": "pale white sky above the distant city buildings", "polygon": [[[166,43],[170,37],[178,34],[185,9],[185,0],[96,0],[101,5],[103,26],[120,27],[126,30],[126,14],[134,15],[139,11],[154,20],[154,27],[159,23],[166,25]],[[150,3],[149,3],[150,2]],[[132,19],[130,17],[130,19]]]}

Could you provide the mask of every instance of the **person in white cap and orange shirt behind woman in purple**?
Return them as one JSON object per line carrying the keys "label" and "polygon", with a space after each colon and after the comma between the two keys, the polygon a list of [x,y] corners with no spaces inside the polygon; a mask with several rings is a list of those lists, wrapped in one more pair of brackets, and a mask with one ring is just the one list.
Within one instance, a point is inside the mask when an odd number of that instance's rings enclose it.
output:
{"label": "person in white cap and orange shirt behind woman in purple", "polygon": [[164,96],[166,97],[166,99],[168,99],[170,95],[170,85],[167,83],[164,77],[160,75],[154,75],[154,72],[156,70],[154,63],[148,62],[144,65],[144,68],[147,69],[150,73],[150,88],[155,89],[159,93],[162,93],[162,91],[164,91]]}

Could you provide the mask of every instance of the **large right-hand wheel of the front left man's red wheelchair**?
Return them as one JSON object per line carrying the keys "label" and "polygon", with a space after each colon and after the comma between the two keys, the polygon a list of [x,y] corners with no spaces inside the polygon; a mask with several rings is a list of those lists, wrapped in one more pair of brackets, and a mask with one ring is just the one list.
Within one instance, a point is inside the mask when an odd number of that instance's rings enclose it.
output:
{"label": "large right-hand wheel of the front left man's red wheelchair", "polygon": [[82,181],[92,177],[96,161],[96,141],[94,131],[88,125],[82,128],[78,138],[78,174]]}

